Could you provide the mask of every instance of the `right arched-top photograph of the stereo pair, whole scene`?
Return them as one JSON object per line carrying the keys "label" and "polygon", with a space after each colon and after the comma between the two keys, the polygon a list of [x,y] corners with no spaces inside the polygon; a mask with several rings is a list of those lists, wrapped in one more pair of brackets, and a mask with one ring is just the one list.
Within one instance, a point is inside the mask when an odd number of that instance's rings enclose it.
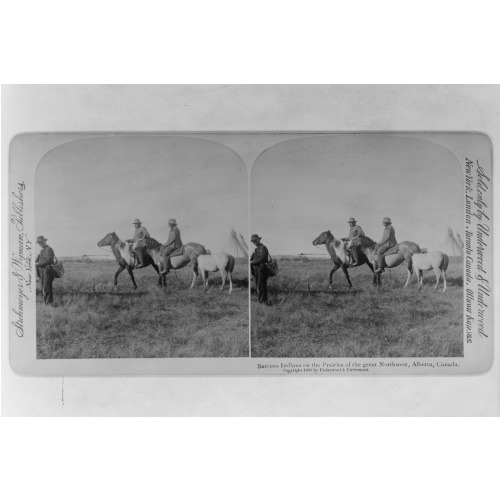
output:
{"label": "right arched-top photograph of the stereo pair, whole scene", "polygon": [[403,134],[325,134],[251,170],[251,355],[460,357],[464,174]]}

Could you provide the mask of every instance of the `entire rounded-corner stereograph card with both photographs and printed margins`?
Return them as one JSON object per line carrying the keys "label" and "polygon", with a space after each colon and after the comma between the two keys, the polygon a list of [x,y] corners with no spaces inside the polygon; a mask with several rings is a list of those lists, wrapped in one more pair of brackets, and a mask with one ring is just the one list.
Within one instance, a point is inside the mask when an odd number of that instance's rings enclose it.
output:
{"label": "entire rounded-corner stereograph card with both photographs and printed margins", "polygon": [[491,367],[487,135],[26,132],[9,146],[17,373]]}

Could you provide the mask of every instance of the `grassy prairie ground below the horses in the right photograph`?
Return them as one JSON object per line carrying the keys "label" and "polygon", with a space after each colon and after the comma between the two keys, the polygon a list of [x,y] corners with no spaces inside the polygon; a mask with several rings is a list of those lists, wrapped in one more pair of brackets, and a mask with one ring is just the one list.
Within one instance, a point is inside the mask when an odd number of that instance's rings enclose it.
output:
{"label": "grassy prairie ground below the horses in the right photograph", "polygon": [[[367,266],[341,270],[328,287],[331,261],[279,261],[269,278],[271,307],[252,294],[253,357],[436,357],[463,356],[462,263],[450,259],[448,289],[434,290],[434,273],[403,288],[403,266],[372,286]],[[309,287],[308,287],[309,281]],[[310,289],[310,291],[309,291]]]}

